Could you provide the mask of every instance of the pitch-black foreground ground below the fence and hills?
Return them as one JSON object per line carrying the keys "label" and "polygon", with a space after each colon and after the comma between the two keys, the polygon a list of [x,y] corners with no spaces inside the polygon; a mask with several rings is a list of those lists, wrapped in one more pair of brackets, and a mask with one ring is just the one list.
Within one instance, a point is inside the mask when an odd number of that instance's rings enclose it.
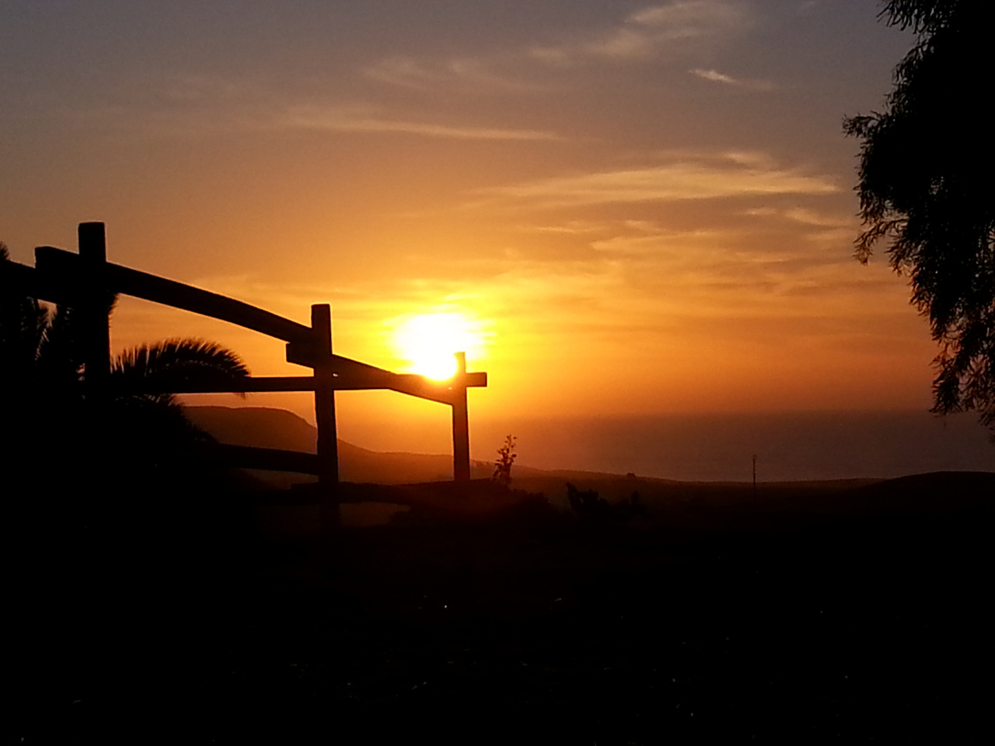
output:
{"label": "pitch-black foreground ground below the fence and hills", "polygon": [[[799,511],[807,493],[825,509]],[[794,513],[688,486],[628,527],[539,501],[415,507],[343,529],[330,556],[238,521],[210,540],[22,537],[13,732],[990,743],[995,475],[792,494]]]}

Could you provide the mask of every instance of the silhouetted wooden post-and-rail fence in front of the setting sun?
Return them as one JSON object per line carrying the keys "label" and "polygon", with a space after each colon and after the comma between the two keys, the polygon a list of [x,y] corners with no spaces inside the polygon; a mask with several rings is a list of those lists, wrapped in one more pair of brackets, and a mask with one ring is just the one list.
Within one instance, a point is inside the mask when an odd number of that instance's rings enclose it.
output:
{"label": "silhouetted wooden post-and-rail fence in front of the setting sun", "polygon": [[287,360],[311,369],[309,376],[250,377],[238,388],[219,390],[189,385],[169,392],[149,385],[128,393],[226,393],[311,391],[317,423],[317,454],[276,449],[224,446],[218,450],[228,466],[297,471],[318,477],[321,519],[324,527],[338,523],[338,446],[335,425],[335,392],[388,389],[428,399],[453,408],[453,475],[470,480],[470,427],[467,389],[488,385],[487,373],[468,373],[466,354],[457,353],[457,373],[436,382],[424,376],[393,373],[332,352],[331,307],[311,305],[310,326],[284,318],[249,303],[182,282],[131,270],[107,262],[103,223],[81,223],[79,254],[54,247],[35,250],[35,267],[16,265],[7,277],[24,294],[72,306],[83,321],[86,365],[84,386],[90,400],[100,401],[109,391],[110,328],[107,298],[120,293],[145,298],[174,308],[229,321],[287,342]]}

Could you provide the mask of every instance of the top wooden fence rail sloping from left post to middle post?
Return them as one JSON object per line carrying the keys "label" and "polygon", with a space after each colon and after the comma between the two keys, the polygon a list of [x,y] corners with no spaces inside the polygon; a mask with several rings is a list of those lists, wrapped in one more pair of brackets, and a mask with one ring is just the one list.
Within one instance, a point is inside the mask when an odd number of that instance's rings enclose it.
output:
{"label": "top wooden fence rail sloping from left post to middle post", "polygon": [[[36,249],[35,263],[43,275],[62,281],[79,278],[84,267],[78,254],[54,247]],[[107,289],[113,292],[211,316],[288,342],[306,343],[311,339],[309,326],[241,300],[109,262],[104,267]]]}

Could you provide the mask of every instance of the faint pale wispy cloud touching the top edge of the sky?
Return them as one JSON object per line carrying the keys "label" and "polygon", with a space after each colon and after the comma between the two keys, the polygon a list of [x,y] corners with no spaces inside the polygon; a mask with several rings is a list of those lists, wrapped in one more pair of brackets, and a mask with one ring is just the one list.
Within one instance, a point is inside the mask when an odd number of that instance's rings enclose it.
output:
{"label": "faint pale wispy cloud touching the top edge of the sky", "polygon": [[739,3],[680,0],[637,11],[600,35],[534,47],[530,54],[564,66],[590,59],[643,60],[723,36],[740,28],[745,20],[745,9]]}

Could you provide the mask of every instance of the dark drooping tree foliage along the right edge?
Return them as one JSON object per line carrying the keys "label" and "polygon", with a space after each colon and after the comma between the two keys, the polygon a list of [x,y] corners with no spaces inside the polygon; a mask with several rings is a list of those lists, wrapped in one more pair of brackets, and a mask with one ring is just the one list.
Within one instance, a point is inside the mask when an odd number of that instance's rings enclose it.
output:
{"label": "dark drooping tree foliage along the right edge", "polygon": [[857,259],[885,240],[940,352],[933,411],[974,410],[995,429],[995,74],[991,0],[890,0],[881,16],[915,46],[884,112],[848,117],[861,138]]}

